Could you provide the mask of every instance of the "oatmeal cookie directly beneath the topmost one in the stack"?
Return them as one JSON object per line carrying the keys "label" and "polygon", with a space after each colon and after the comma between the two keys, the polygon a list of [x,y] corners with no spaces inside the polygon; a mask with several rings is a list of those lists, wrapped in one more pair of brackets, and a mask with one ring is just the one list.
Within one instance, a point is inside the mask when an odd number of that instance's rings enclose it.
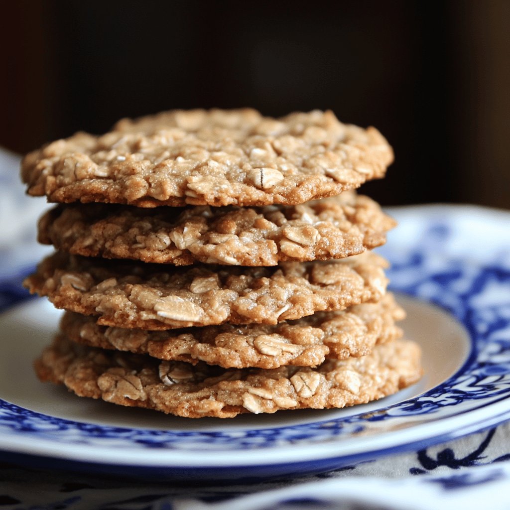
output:
{"label": "oatmeal cookie directly beneath the topmost one in the stack", "polygon": [[57,206],[39,242],[85,257],[189,265],[274,266],[342,259],[386,242],[396,222],[366,196],[345,192],[299,206],[141,209]]}

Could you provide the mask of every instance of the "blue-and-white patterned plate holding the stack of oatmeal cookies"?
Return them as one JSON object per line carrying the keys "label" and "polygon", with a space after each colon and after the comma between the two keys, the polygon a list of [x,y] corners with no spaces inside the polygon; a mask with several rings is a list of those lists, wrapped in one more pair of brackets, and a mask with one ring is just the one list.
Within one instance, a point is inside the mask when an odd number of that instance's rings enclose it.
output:
{"label": "blue-and-white patterned plate holding the stack of oatmeal cookies", "polygon": [[380,250],[426,375],[348,410],[186,420],[39,384],[31,363],[56,329],[43,300],[0,318],[0,454],[124,476],[259,479],[323,472],[423,448],[510,419],[510,215],[428,206],[391,211]]}

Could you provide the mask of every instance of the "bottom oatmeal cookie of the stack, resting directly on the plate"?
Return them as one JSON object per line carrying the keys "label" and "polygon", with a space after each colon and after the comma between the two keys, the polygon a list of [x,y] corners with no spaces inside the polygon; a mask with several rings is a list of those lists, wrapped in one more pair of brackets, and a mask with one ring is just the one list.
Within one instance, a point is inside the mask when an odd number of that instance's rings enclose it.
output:
{"label": "bottom oatmeal cookie of the stack, resting directly on the plate", "polygon": [[420,348],[402,340],[317,368],[225,370],[96,349],[60,336],[35,368],[41,380],[63,383],[82,397],[188,418],[367,403],[413,384],[422,374]]}

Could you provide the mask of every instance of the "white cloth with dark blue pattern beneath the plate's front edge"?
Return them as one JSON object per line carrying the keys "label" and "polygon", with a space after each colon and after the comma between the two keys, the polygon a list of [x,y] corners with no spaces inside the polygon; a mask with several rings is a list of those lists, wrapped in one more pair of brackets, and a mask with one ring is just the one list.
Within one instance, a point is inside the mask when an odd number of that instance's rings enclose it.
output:
{"label": "white cloth with dark blue pattern beneath the plate's front edge", "polygon": [[509,439],[510,425],[501,425],[448,444],[320,476],[230,487],[182,487],[181,483],[169,487],[168,483],[158,484],[156,480],[105,479],[0,464],[0,508],[368,510],[377,505],[497,510],[508,507]]}

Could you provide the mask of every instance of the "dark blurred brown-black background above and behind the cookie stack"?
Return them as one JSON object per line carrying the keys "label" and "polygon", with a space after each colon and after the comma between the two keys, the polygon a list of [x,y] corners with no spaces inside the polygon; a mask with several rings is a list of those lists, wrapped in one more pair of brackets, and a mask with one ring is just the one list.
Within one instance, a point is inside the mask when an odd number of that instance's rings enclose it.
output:
{"label": "dark blurred brown-black background above and behind the cookie stack", "polygon": [[510,208],[510,2],[5,2],[0,145],[124,116],[251,106],[375,125],[384,205]]}

